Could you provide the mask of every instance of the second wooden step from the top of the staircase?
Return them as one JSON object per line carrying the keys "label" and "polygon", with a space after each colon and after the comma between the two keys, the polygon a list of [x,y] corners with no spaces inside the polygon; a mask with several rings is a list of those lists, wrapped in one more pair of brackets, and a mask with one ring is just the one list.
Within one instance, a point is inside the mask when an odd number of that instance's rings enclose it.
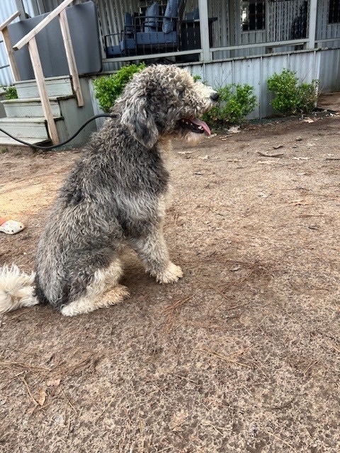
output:
{"label": "second wooden step from the top of the staircase", "polygon": [[[61,116],[60,104],[58,98],[50,98],[53,116]],[[42,117],[42,105],[39,98],[10,99],[1,101],[7,117]]]}

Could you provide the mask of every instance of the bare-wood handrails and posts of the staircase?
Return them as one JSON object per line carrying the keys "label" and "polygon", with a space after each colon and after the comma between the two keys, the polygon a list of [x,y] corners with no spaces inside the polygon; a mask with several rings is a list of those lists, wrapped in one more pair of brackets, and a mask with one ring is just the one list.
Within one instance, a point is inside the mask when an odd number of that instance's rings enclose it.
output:
{"label": "bare-wood handrails and posts of the staircase", "polygon": [[[74,50],[72,47],[72,41],[71,41],[71,36],[69,33],[69,25],[67,22],[67,14],[65,11],[65,8],[69,6],[69,4],[72,3],[74,0],[64,0],[62,4],[57,6],[48,16],[46,16],[38,25],[33,28],[33,30],[30,30],[29,33],[27,33],[26,36],[24,36],[20,41],[16,43],[16,45],[11,46],[11,41],[9,40],[8,36],[8,30],[7,26],[11,21],[13,21],[14,18],[18,16],[18,12],[13,14],[10,18],[7,19],[4,24],[1,25],[1,27],[4,25],[4,28],[1,30],[2,34],[4,35],[4,43],[6,45],[6,50],[8,53],[8,59],[9,59],[9,64],[11,66],[11,70],[13,71],[13,76],[14,80],[18,81],[20,80],[20,76],[18,74],[18,69],[16,68],[16,62],[13,56],[13,50],[19,50],[21,49],[24,45],[28,45],[28,52],[30,54],[30,61],[32,63],[33,67],[33,72],[35,75],[35,80],[37,81],[37,86],[38,86],[38,93],[39,97],[41,100],[42,104],[42,111],[44,113],[45,120],[47,122],[47,129],[50,134],[50,139],[52,141],[52,144],[58,144],[60,142],[58,133],[57,133],[57,127],[55,125],[55,119],[52,114],[52,108],[50,105],[50,99],[48,98],[47,94],[47,88],[45,84],[45,76],[42,72],[42,64],[40,61],[40,56],[38,52],[38,45],[35,40],[35,36],[38,35],[38,33],[46,27],[54,18],[59,16],[60,20],[60,29],[62,31],[62,40],[64,42],[64,47],[65,47],[65,52],[66,52],[66,57],[67,57],[67,63],[69,66],[69,74],[71,75],[71,80],[72,80],[72,87],[73,91],[77,97],[77,103],[79,107],[84,105],[84,100],[83,96],[81,93],[81,86],[79,82],[79,74],[77,71],[77,64],[76,60],[74,58]],[[4,33],[5,32],[5,33]],[[5,38],[6,36],[6,38]]]}

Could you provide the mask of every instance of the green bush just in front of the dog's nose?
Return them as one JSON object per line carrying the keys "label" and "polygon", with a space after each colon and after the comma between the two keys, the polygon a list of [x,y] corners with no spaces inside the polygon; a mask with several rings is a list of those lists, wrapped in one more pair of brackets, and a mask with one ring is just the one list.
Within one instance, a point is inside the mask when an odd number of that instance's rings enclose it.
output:
{"label": "green bush just in front of the dog's nose", "polygon": [[253,86],[230,84],[218,88],[217,92],[218,105],[203,115],[203,119],[215,127],[240,124],[256,107]]}

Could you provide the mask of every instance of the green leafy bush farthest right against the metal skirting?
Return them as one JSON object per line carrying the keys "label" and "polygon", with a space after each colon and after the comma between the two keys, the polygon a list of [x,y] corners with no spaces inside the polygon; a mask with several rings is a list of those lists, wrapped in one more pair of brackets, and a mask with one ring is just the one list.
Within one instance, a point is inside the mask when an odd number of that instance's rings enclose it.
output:
{"label": "green leafy bush farthest right against the metal skirting", "polygon": [[274,94],[271,105],[283,115],[311,112],[317,103],[318,81],[298,84],[294,71],[283,69],[281,74],[273,74],[267,80],[268,90]]}

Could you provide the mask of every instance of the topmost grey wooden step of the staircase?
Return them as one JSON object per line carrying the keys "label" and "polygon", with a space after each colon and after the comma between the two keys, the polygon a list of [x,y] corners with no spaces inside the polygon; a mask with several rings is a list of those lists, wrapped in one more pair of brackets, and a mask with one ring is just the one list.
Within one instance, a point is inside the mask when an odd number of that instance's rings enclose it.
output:
{"label": "topmost grey wooden step of the staircase", "polygon": [[[47,77],[45,79],[47,95],[49,97],[73,96],[72,84],[69,76]],[[38,98],[38,86],[35,80],[15,82],[19,99]]]}

